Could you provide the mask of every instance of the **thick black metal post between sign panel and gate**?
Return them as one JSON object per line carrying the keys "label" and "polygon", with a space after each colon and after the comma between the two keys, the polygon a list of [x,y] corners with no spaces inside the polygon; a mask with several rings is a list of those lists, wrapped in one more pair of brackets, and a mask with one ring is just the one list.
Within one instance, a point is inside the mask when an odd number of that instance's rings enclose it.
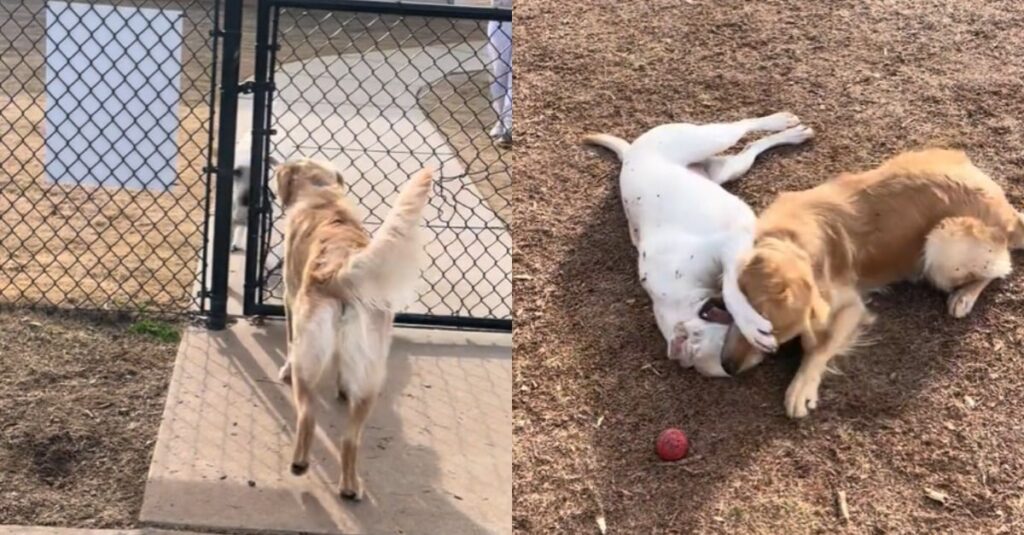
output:
{"label": "thick black metal post between sign panel and gate", "polygon": [[213,219],[213,276],[207,327],[227,325],[227,275],[231,257],[231,189],[234,137],[239,115],[239,70],[242,49],[242,0],[225,0],[223,59],[220,69],[220,124],[217,127],[217,188]]}

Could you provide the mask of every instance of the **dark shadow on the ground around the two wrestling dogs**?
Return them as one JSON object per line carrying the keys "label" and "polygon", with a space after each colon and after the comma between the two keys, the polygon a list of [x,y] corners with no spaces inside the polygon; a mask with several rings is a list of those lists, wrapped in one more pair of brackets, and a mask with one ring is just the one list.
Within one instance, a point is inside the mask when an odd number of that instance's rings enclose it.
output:
{"label": "dark shadow on the ground around the two wrestling dogs", "polygon": [[[600,422],[585,477],[609,519],[669,501],[655,509],[674,515],[664,519],[666,528],[723,529],[732,515],[742,515],[734,496],[744,491],[736,489],[756,489],[753,466],[799,480],[820,464],[811,458],[837,455],[816,449],[820,437],[871,437],[899,427],[921,390],[949,372],[974,323],[946,316],[944,296],[924,286],[899,285],[876,295],[869,307],[879,319],[867,335],[876,342],[839,359],[842,374],[826,376],[818,409],[803,421],[791,420],[783,395],[799,366],[799,342],[732,379],[702,377],[667,360],[650,300],[637,283],[617,188],[598,191],[599,206],[585,215],[589,224],[559,264],[553,306],[573,327],[561,331],[568,333],[565,343],[580,375],[600,378],[579,385],[573,405]],[[986,301],[983,294],[973,314],[984,313]],[[657,459],[654,440],[668,427],[685,429],[687,460]],[[809,450],[814,438],[819,441]],[[783,502],[782,510],[791,505]]]}

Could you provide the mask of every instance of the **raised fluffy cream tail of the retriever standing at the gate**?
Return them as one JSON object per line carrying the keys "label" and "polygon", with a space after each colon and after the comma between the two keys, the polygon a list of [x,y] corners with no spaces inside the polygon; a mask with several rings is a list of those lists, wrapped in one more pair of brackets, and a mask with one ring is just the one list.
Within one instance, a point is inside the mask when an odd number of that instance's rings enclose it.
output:
{"label": "raised fluffy cream tail of the retriever standing at the gate", "polygon": [[370,244],[334,275],[331,287],[342,298],[386,311],[400,310],[416,298],[423,252],[419,225],[433,183],[431,169],[406,182]]}

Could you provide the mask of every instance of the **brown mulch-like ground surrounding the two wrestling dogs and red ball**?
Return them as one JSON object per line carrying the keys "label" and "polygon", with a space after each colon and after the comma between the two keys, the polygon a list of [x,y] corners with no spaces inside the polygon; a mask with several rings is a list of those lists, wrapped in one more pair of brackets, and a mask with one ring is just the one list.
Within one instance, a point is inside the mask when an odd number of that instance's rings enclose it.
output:
{"label": "brown mulch-like ground surrounding the two wrestling dogs and red ball", "polygon": [[[1011,1],[517,1],[515,530],[1024,531],[1019,274],[963,321],[928,288],[874,298],[877,343],[791,421],[793,355],[732,380],[664,359],[618,164],[579,146],[790,110],[817,136],[730,187],[756,209],[926,145],[965,149],[1024,206],[1020,28]],[[657,462],[668,426],[689,462]]]}

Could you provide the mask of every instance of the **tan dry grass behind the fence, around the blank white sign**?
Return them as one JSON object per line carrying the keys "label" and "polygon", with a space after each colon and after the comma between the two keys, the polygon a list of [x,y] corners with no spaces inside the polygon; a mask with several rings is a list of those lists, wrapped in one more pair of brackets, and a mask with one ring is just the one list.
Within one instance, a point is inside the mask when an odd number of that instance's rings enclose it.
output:
{"label": "tan dry grass behind the fence, around the blank white sign", "polygon": [[209,111],[186,110],[177,182],[153,193],[54,184],[43,169],[43,105],[23,94],[3,109],[12,128],[0,142],[14,149],[0,175],[0,249],[10,252],[0,271],[4,301],[190,307],[206,198],[194,139],[207,136]]}

